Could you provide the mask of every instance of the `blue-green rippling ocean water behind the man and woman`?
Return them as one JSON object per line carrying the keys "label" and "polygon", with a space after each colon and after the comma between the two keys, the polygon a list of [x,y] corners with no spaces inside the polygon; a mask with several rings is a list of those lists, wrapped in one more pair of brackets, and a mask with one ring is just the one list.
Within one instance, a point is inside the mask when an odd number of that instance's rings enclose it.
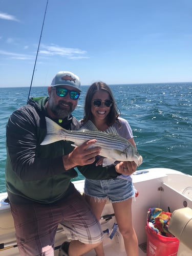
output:
{"label": "blue-green rippling ocean water behind the man and woman", "polygon": [[[140,169],[165,167],[192,175],[192,82],[116,84],[110,86],[121,117],[129,121]],[[83,116],[82,94],[73,115]],[[26,104],[29,88],[0,88],[0,193],[5,192],[6,123],[9,115]],[[33,87],[31,96],[47,96],[47,87]],[[83,176],[78,176],[79,180]]]}

